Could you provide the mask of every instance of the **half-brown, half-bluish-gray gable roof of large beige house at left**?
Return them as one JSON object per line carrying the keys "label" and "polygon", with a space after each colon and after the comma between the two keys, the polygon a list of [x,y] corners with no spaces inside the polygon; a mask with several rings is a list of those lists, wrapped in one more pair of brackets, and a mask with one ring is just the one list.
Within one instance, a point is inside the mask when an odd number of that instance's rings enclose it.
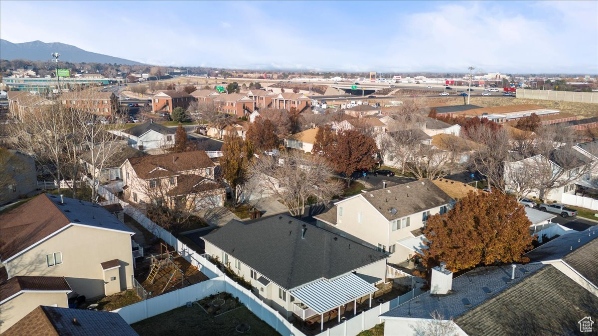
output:
{"label": "half-brown, half-bluish-gray gable roof of large beige house at left", "polygon": [[0,216],[0,259],[5,261],[71,222],[133,234],[98,204],[63,199],[61,203],[60,196],[41,194]]}

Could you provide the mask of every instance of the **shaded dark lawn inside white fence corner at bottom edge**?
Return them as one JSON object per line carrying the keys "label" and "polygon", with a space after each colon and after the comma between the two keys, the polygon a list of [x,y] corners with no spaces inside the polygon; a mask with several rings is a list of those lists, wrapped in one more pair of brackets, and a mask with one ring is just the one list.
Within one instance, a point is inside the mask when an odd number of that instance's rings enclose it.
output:
{"label": "shaded dark lawn inside white fence corner at bottom edge", "polygon": [[[230,300],[234,301],[234,299],[228,299],[227,303]],[[258,319],[245,306],[238,305],[239,307],[227,310],[224,313],[221,313],[220,310],[207,313],[203,307],[194,303],[192,307],[176,308],[139,321],[131,326],[141,336],[237,335],[240,333],[236,331],[236,328],[242,324],[249,325],[250,328],[248,331],[243,332],[244,335],[279,335],[271,326]]]}

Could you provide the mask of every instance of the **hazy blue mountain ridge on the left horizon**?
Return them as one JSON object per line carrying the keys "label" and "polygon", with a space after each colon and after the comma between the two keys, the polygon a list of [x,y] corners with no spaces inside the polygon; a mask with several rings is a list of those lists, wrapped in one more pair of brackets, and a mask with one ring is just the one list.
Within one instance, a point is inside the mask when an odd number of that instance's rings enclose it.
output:
{"label": "hazy blue mountain ridge on the left horizon", "polygon": [[32,41],[23,43],[13,43],[5,39],[0,39],[0,59],[14,60],[50,60],[51,53],[59,53],[60,60],[74,63],[117,63],[126,65],[142,65],[143,63],[134,60],[121,59],[98,53],[92,53],[74,45],[59,42],[45,43],[42,41]]}

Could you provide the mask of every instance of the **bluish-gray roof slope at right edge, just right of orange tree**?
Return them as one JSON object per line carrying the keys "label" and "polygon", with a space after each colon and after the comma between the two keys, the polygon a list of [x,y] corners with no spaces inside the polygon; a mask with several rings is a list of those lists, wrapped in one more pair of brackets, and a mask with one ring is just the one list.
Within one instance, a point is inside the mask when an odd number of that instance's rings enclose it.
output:
{"label": "bluish-gray roof slope at right edge, just right of orange tree", "polygon": [[564,256],[575,251],[588,242],[591,242],[598,237],[598,227],[590,227],[585,231],[568,233],[545,243],[538,248],[533,249],[525,254],[527,258],[533,261],[550,261],[562,259]]}

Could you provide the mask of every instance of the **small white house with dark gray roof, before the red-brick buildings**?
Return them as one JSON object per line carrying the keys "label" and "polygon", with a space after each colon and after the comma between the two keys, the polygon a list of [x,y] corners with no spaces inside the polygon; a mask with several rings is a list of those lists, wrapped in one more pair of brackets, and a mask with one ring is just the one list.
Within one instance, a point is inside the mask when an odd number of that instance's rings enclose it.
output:
{"label": "small white house with dark gray roof, before the red-brick buildings", "polygon": [[113,131],[116,135],[129,138],[129,144],[139,150],[165,149],[175,145],[176,130],[170,127],[149,123],[139,124],[130,129]]}

